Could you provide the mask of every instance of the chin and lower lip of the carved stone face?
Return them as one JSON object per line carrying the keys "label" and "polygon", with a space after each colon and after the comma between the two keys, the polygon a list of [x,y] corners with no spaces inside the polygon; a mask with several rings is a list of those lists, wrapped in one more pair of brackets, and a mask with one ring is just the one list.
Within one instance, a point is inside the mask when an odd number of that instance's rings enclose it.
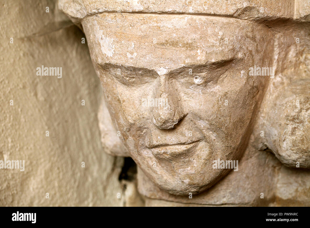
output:
{"label": "chin and lower lip of the carved stone face", "polygon": [[[219,146],[206,141],[140,150],[137,164],[157,187],[174,195],[198,194],[213,186],[232,169],[214,165],[232,160]],[[210,149],[211,148],[211,149]],[[142,156],[147,156],[146,158]],[[152,158],[152,159],[150,159]],[[150,163],[149,161],[153,161]],[[233,168],[233,166],[232,166]]]}

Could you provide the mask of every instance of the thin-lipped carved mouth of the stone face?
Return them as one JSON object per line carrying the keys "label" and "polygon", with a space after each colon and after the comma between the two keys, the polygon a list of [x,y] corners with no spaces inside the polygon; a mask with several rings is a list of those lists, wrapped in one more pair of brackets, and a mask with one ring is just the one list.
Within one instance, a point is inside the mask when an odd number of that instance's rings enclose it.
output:
{"label": "thin-lipped carved mouth of the stone face", "polygon": [[175,144],[175,145],[159,145],[150,148],[153,155],[158,159],[175,159],[175,158],[187,158],[193,151],[200,141],[188,143],[188,144]]}

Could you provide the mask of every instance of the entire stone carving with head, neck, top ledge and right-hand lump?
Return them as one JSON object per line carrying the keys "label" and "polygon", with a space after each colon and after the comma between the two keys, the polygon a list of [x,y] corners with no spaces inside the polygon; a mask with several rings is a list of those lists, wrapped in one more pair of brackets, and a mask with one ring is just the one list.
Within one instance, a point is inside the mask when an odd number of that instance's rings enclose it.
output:
{"label": "entire stone carving with head, neck, top ledge and right-hand lump", "polygon": [[102,84],[102,142],[134,159],[147,205],[310,205],[283,194],[310,175],[308,5],[155,3],[59,1]]}

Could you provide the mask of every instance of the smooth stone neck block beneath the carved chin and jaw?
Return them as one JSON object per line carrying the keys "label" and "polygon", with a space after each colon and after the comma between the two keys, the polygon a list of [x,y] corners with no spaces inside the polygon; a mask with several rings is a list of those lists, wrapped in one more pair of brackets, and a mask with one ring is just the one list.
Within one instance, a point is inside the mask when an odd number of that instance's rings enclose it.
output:
{"label": "smooth stone neck block beneath the carved chin and jaw", "polygon": [[[189,194],[176,196],[161,190],[141,170],[138,172],[138,189],[141,194],[151,199],[165,199],[187,204],[268,206],[275,198],[274,180],[277,178],[276,170],[279,167],[280,163],[272,154],[258,153],[255,148],[249,147],[239,160],[237,172],[230,172],[213,187],[193,195],[192,198],[189,198]],[[264,199],[260,198],[260,193],[264,193]]]}

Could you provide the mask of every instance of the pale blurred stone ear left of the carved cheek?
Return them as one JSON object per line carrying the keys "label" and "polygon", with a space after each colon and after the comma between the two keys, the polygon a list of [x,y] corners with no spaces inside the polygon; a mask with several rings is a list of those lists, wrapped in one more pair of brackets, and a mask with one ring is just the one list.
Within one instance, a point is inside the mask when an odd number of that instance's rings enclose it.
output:
{"label": "pale blurred stone ear left of the carved cheek", "polygon": [[102,96],[98,111],[99,129],[101,133],[101,144],[104,152],[113,156],[130,157],[128,150],[121,141],[121,133],[113,126],[111,116]]}

